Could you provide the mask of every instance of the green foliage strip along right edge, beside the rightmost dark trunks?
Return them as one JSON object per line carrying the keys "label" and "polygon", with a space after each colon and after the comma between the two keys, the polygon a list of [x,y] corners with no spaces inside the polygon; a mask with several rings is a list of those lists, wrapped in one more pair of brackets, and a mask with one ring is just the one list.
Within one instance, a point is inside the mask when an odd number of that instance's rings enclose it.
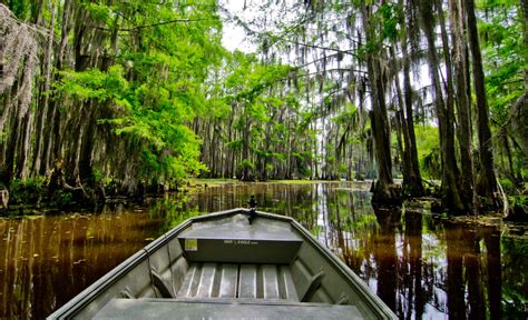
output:
{"label": "green foliage strip along right edge, beside the rightmost dark trunks", "polygon": [[[520,176],[520,171],[526,167],[526,151],[520,147],[526,146],[526,132],[519,129],[526,121],[519,118],[522,114],[522,102],[519,101],[527,92],[525,72],[528,68],[522,6],[515,0],[481,0],[478,1],[478,7],[486,13],[481,14],[478,27],[487,71],[486,91],[490,122],[492,129],[498,131],[497,140],[500,141],[497,144],[499,148],[495,150],[496,153],[502,153],[499,156],[511,157],[514,168],[505,168],[507,161],[497,161],[497,164],[502,167],[499,172]],[[505,139],[516,142],[506,149]]]}

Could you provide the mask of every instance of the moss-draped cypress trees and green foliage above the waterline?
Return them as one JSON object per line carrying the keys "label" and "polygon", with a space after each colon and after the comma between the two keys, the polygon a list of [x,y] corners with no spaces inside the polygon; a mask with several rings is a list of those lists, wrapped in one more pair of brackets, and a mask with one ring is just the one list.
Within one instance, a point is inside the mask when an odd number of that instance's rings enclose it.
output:
{"label": "moss-draped cypress trees and green foliage above the waterline", "polygon": [[2,200],[375,179],[379,204],[521,214],[525,2],[0,1]]}

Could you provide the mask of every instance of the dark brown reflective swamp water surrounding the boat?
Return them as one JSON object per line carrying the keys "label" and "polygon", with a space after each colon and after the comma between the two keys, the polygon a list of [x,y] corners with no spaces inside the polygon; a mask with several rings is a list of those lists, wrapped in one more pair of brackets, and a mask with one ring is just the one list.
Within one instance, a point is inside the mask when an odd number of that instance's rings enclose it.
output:
{"label": "dark brown reflective swamp water surrounding the boat", "polygon": [[42,319],[172,227],[201,212],[246,207],[250,194],[261,210],[310,229],[401,319],[528,318],[527,240],[505,232],[508,226],[454,224],[417,209],[374,211],[368,189],[236,183],[143,209],[0,219],[0,318]]}

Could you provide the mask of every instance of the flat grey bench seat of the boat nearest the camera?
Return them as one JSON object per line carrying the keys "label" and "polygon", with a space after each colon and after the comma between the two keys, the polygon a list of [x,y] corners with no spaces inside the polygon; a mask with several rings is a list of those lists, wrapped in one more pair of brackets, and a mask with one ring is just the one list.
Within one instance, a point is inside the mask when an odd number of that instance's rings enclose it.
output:
{"label": "flat grey bench seat of the boat nearest the camera", "polygon": [[94,319],[363,319],[355,306],[211,300],[113,299]]}

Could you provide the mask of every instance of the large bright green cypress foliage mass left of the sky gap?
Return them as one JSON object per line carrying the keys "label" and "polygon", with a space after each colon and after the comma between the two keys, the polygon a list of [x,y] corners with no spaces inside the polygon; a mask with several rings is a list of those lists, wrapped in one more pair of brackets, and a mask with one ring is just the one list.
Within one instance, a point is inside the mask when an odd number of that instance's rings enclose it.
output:
{"label": "large bright green cypress foliage mass left of the sky gap", "polygon": [[[225,117],[228,108],[223,101],[208,102],[203,90],[225,54],[216,3],[189,0],[175,7],[134,0],[81,6],[105,28],[130,32],[119,33],[115,63],[107,71],[60,71],[57,91],[110,110],[101,111],[106,116],[98,123],[130,141],[133,148],[125,152],[131,154],[125,157],[140,161],[134,172],[137,182],[179,184],[206,171],[199,162],[201,140],[188,126],[218,106],[223,109],[216,116]],[[111,181],[99,168],[94,171],[96,181]]]}

